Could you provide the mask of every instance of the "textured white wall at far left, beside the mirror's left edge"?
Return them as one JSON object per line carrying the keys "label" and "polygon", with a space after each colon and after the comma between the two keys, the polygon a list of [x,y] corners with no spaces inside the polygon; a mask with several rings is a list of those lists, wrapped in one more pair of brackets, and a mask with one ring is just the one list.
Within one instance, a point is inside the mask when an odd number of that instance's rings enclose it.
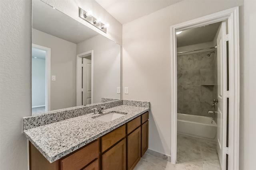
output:
{"label": "textured white wall at far left, beside the mirror's left edge", "polygon": [[0,0],[0,169],[28,169],[22,117],[31,115],[31,1]]}

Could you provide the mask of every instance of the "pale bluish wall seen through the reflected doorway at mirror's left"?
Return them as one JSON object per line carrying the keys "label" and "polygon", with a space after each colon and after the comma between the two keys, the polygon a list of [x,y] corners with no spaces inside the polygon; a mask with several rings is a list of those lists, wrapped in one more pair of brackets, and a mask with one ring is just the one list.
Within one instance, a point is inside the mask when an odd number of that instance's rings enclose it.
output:
{"label": "pale bluish wall seen through the reflected doorway at mirror's left", "polygon": [[45,105],[45,59],[32,57],[32,107]]}

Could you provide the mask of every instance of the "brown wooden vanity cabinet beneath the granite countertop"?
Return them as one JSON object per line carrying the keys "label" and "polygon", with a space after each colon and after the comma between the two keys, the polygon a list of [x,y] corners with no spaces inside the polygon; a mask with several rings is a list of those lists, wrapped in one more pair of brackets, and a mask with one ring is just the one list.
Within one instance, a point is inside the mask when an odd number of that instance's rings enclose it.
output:
{"label": "brown wooden vanity cabinet beneath the granite countertop", "polygon": [[30,170],[133,170],[148,149],[148,112],[55,162],[29,143]]}

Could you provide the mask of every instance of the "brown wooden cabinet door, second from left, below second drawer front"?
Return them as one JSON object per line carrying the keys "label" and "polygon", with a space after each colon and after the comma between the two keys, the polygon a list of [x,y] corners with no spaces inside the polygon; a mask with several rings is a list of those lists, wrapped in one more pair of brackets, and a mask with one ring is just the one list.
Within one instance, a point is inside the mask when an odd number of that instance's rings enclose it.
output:
{"label": "brown wooden cabinet door, second from left, below second drawer front", "polygon": [[116,146],[102,155],[102,170],[126,169],[126,141],[119,142]]}

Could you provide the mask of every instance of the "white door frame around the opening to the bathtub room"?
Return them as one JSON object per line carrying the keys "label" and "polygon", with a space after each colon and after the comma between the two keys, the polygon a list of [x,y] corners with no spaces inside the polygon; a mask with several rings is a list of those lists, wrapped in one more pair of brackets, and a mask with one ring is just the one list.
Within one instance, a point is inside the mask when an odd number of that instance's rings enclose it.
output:
{"label": "white door frame around the opening to the bathtub room", "polygon": [[[228,170],[239,170],[240,123],[240,50],[239,7],[203,16],[171,26],[171,162],[177,159],[177,39],[176,31],[184,31],[211,23],[228,20],[229,52],[229,125]],[[232,113],[232,114],[230,114]]]}

